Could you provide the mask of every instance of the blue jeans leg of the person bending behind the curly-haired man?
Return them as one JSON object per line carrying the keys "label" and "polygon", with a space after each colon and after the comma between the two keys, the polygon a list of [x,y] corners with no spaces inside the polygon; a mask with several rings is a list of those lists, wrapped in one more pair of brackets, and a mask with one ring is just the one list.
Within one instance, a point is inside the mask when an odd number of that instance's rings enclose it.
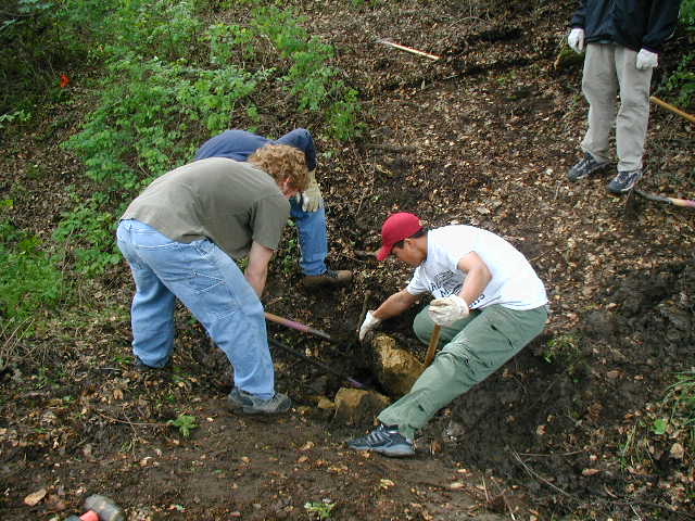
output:
{"label": "blue jeans leg of the person bending behind the curly-haired man", "polygon": [[326,212],[304,212],[302,203],[296,198],[290,199],[290,215],[296,224],[300,233],[300,251],[302,258],[300,267],[304,275],[321,275],[326,271],[326,256],[328,255],[328,238],[326,234]]}

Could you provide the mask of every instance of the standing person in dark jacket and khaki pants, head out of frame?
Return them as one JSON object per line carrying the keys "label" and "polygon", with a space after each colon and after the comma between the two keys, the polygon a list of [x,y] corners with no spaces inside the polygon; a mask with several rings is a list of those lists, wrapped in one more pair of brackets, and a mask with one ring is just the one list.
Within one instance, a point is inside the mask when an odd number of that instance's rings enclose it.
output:
{"label": "standing person in dark jacket and khaki pants, head out of frame", "polygon": [[[678,23],[680,0],[582,0],[570,22],[567,42],[584,46],[582,91],[589,102],[584,157],[567,177],[578,181],[605,169],[608,138],[616,126],[618,173],[608,185],[616,194],[642,178],[642,156],[649,118],[649,84],[664,42]],[[616,91],[620,109],[616,116]]]}

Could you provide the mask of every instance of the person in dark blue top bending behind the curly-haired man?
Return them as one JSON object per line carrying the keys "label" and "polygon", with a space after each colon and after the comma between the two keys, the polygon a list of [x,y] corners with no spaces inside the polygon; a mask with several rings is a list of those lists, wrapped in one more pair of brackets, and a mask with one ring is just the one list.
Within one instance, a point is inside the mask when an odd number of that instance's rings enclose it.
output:
{"label": "person in dark blue top bending behind the curly-haired man", "polygon": [[308,187],[290,200],[290,216],[294,219],[300,236],[300,268],[302,282],[307,288],[317,285],[342,285],[352,280],[352,271],[332,270],[326,265],[328,234],[326,212],[320,188],[316,181],[316,147],[308,130],[295,128],[280,139],[270,140],[245,130],[225,130],[205,141],[195,153],[195,160],[228,157],[244,162],[257,149],[266,144],[287,144],[304,152],[309,170]]}

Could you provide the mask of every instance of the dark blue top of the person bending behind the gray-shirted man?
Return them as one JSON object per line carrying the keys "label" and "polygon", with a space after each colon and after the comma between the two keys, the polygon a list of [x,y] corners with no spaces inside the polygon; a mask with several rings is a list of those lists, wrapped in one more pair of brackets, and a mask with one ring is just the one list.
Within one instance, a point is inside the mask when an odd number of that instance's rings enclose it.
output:
{"label": "dark blue top of the person bending behind the gray-shirted man", "polygon": [[316,147],[308,130],[295,128],[286,134],[277,141],[273,141],[263,136],[257,136],[245,130],[225,130],[224,132],[208,139],[198,149],[195,160],[206,157],[229,157],[235,161],[247,161],[261,147],[273,144],[288,144],[304,152],[306,167],[311,170],[316,168]]}

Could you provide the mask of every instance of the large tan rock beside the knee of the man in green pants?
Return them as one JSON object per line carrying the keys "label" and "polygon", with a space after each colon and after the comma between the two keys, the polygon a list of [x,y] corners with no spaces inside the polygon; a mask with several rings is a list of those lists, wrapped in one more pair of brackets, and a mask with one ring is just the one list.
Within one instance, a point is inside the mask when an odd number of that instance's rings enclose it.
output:
{"label": "large tan rock beside the knee of the man in green pants", "polygon": [[415,356],[399,350],[395,340],[386,334],[378,334],[371,341],[376,354],[376,373],[379,383],[392,396],[403,396],[425,370]]}

